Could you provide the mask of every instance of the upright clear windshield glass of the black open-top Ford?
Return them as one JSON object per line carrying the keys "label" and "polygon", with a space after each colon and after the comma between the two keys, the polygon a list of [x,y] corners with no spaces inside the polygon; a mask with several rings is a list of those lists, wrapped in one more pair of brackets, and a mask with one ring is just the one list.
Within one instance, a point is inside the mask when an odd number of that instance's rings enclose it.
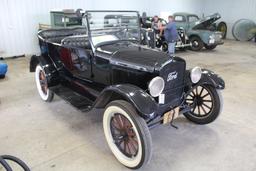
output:
{"label": "upright clear windshield glass of the black open-top Ford", "polygon": [[94,46],[111,41],[140,40],[137,12],[90,11],[87,17]]}

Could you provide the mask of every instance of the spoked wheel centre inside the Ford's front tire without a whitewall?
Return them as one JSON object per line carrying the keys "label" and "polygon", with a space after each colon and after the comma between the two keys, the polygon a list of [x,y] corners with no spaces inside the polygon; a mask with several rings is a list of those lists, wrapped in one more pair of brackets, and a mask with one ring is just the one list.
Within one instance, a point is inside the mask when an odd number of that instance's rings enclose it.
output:
{"label": "spoked wheel centre inside the Ford's front tire without a whitewall", "polygon": [[197,117],[205,117],[212,112],[213,97],[207,87],[197,86],[186,98],[186,103],[191,106],[190,113]]}

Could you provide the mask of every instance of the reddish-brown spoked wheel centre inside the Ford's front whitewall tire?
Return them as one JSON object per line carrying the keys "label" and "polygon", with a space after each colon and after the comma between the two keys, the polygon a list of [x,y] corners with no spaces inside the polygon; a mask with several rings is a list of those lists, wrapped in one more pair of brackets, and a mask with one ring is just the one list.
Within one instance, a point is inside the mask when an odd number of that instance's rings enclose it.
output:
{"label": "reddish-brown spoked wheel centre inside the Ford's front whitewall tire", "polygon": [[131,122],[121,114],[114,114],[110,125],[111,134],[118,149],[127,157],[135,157],[139,144]]}

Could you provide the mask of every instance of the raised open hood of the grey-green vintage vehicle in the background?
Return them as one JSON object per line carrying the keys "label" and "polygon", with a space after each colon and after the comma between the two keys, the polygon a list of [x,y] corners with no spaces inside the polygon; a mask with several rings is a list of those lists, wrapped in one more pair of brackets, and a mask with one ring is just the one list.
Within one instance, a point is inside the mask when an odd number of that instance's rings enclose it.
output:
{"label": "raised open hood of the grey-green vintage vehicle in the background", "polygon": [[219,13],[215,13],[212,15],[209,15],[207,17],[204,17],[198,21],[195,21],[193,23],[192,29],[205,29],[212,25],[215,21],[221,18],[221,15]]}

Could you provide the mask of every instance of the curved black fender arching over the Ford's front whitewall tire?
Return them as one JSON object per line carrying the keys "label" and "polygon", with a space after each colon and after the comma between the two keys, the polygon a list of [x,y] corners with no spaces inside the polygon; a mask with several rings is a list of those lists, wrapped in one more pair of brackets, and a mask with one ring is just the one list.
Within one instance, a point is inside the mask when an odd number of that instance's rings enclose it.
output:
{"label": "curved black fender arching over the Ford's front whitewall tire", "polygon": [[158,104],[144,90],[131,84],[112,85],[103,90],[94,107],[104,108],[113,100],[124,99],[130,102],[144,119],[152,119],[156,115]]}

